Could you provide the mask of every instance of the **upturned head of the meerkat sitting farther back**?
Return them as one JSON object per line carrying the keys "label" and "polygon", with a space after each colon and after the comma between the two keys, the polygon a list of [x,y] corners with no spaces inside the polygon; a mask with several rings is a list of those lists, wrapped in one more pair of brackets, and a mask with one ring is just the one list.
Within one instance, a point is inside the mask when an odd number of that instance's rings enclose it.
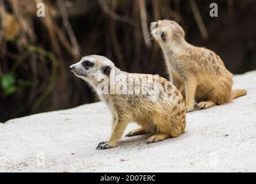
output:
{"label": "upturned head of the meerkat sitting farther back", "polygon": [[152,22],[150,29],[153,37],[163,45],[168,45],[170,42],[174,43],[185,38],[184,30],[175,21],[160,20]]}

